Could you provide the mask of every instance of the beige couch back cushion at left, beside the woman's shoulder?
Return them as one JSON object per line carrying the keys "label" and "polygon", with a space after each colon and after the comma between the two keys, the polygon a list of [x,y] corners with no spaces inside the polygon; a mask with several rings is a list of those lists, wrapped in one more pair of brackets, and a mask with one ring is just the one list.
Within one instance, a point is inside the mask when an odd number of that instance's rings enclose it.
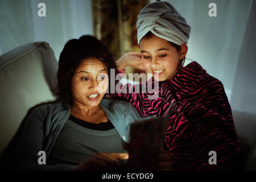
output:
{"label": "beige couch back cushion at left, beside the woman's shoulder", "polygon": [[0,56],[0,154],[30,107],[55,100],[57,60],[46,42]]}

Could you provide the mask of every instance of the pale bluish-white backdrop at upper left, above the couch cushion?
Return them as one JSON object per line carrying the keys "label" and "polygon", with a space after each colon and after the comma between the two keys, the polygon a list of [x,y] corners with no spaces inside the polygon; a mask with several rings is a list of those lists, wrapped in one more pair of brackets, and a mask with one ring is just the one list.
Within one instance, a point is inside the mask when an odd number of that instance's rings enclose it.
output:
{"label": "pale bluish-white backdrop at upper left, above the couch cushion", "polygon": [[[38,16],[40,2],[46,4],[46,17]],[[45,41],[58,60],[65,42],[83,34],[93,34],[91,1],[0,1],[0,55],[26,43]]]}

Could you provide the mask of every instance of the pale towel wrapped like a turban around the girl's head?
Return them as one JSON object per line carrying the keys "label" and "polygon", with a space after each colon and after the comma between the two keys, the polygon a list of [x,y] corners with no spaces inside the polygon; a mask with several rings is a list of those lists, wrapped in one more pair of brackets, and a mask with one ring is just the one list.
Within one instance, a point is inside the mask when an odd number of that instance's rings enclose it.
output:
{"label": "pale towel wrapped like a turban around the girl's head", "polygon": [[168,2],[153,2],[143,7],[137,20],[138,44],[147,32],[179,46],[188,43],[191,27]]}

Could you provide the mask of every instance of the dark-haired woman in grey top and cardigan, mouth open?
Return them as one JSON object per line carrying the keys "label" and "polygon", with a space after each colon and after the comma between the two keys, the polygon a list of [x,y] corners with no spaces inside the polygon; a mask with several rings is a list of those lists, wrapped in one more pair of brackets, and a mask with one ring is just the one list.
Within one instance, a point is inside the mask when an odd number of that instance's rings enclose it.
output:
{"label": "dark-haired woman in grey top and cardigan, mouth open", "polygon": [[[121,138],[129,138],[130,123],[141,115],[128,102],[104,98],[110,68],[112,55],[93,36],[65,44],[57,71],[61,101],[27,118],[13,151],[15,169],[99,170],[128,158]],[[39,164],[39,151],[46,164]]]}

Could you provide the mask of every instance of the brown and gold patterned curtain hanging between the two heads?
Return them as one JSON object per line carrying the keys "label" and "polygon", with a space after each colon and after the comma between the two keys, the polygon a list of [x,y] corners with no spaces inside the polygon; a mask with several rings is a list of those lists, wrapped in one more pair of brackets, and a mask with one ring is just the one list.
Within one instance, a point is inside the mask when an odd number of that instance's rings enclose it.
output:
{"label": "brown and gold patterned curtain hanging between the two heads", "polygon": [[[139,52],[137,16],[148,0],[92,0],[94,35],[109,48],[114,60]],[[125,73],[141,72],[127,67]]]}

